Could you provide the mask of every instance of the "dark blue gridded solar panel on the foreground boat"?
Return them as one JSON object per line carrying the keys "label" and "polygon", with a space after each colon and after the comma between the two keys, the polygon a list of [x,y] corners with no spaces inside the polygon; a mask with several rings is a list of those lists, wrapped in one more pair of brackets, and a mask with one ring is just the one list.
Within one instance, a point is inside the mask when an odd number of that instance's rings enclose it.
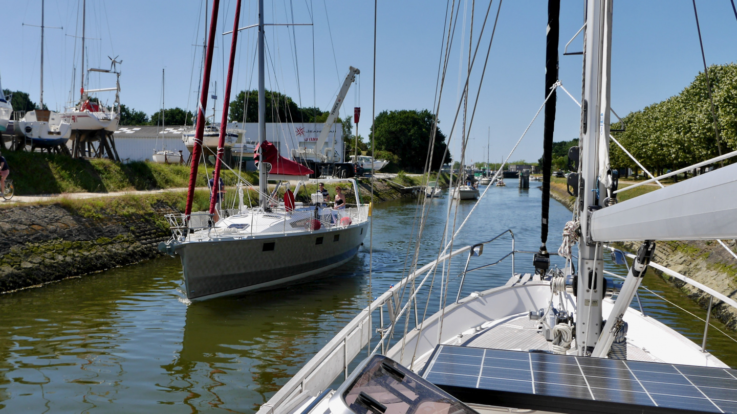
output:
{"label": "dark blue gridded solar panel on the foreground boat", "polygon": [[559,413],[737,413],[737,371],[439,345],[422,376],[466,403]]}

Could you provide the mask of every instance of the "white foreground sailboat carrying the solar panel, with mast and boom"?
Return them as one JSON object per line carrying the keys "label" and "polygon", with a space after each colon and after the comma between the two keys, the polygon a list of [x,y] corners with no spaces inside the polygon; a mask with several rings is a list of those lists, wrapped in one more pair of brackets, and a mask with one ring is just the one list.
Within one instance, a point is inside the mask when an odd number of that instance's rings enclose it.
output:
{"label": "white foreground sailboat carrying the solar panel, with mast and boom", "polygon": [[[548,2],[548,144],[561,85],[559,6]],[[737,413],[737,370],[706,349],[709,316],[697,344],[630,306],[653,267],[737,308],[727,295],[652,261],[657,240],[737,237],[737,164],[617,203],[615,194],[632,186],[618,189],[608,160],[612,1],[587,0],[585,7],[588,103],[581,157],[572,160],[580,177],[576,211],[557,253],[565,264],[551,266],[547,209],[537,252],[515,248],[511,229],[460,248],[452,247],[453,237],[441,241],[435,260],[422,265],[413,257],[407,276],[347,323],[259,414]],[[709,162],[727,156],[733,155]],[[548,181],[552,151],[543,158]],[[546,206],[550,192],[542,197]],[[503,241],[509,250],[485,256]],[[637,241],[640,248],[627,253],[612,241]],[[532,259],[522,272],[518,256]],[[606,270],[605,258],[626,275]],[[494,272],[504,260],[511,260],[506,283],[464,289],[468,273]],[[439,311],[423,311],[433,308]]]}

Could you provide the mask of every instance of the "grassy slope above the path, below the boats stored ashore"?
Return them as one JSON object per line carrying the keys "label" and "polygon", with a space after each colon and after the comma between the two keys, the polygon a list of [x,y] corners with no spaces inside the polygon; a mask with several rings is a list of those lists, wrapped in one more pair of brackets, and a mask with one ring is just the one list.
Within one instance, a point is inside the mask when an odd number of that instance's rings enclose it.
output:
{"label": "grassy slope above the path, below the boats stored ashore", "polygon": [[[10,179],[15,192],[28,194],[58,194],[63,192],[118,192],[185,187],[189,183],[189,166],[154,164],[145,161],[117,163],[107,159],[83,160],[63,155],[38,152],[10,152],[3,156],[10,166]],[[212,167],[207,168],[212,174]],[[258,176],[245,172],[251,183]],[[223,171],[226,186],[237,182],[236,175]],[[198,186],[206,185],[205,168],[200,165]]]}

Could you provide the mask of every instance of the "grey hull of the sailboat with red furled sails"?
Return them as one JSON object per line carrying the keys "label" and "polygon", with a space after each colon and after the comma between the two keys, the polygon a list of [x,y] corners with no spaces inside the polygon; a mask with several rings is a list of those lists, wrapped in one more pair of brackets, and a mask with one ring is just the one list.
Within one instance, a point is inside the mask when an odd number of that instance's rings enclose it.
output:
{"label": "grey hull of the sailboat with red furled sails", "polygon": [[177,249],[187,298],[205,300],[319,277],[355,256],[367,227],[364,222],[289,236],[187,243]]}

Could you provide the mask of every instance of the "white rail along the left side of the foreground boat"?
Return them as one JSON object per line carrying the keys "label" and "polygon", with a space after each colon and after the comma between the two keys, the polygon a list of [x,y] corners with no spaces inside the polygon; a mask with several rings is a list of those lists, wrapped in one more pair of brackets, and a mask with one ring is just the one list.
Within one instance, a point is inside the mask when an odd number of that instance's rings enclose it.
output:
{"label": "white rail along the left side of the foreground boat", "polygon": [[[293,410],[300,400],[300,395],[314,396],[320,390],[325,390],[338,378],[341,372],[347,372],[350,360],[357,356],[365,345],[370,345],[371,340],[371,314],[377,309],[381,309],[384,304],[389,303],[396,298],[400,290],[409,282],[413,281],[422,273],[432,270],[437,264],[445,262],[453,256],[465,253],[471,246],[459,248],[451,253],[446,253],[439,259],[433,260],[425,266],[415,270],[407,277],[403,278],[394,287],[384,292],[376,298],[371,304],[366,306],[361,312],[354,317],[346,326],[335,335],[310,361],[307,362],[292,379],[287,382],[279,391],[276,392],[265,404],[263,404],[257,414],[281,414]],[[368,326],[364,326],[368,322]],[[366,335],[366,337],[364,337]],[[356,343],[356,341],[358,343]],[[317,375],[318,369],[330,363],[340,362],[342,359],[343,370],[330,370],[323,375]],[[327,368],[330,368],[329,366]],[[329,378],[329,376],[332,376]],[[286,405],[283,405],[286,404]]]}

